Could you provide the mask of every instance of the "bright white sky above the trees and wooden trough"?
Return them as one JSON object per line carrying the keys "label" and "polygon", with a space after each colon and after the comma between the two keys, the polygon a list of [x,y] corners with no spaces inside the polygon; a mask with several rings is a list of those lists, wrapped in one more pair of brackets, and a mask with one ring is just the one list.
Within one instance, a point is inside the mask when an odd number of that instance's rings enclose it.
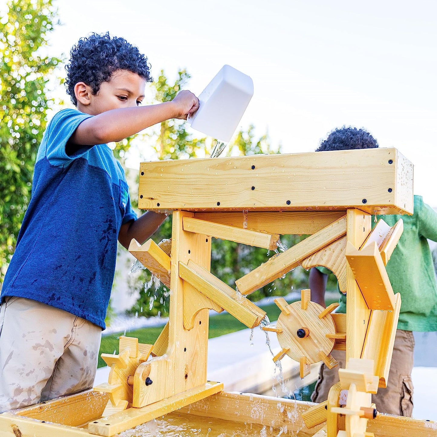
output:
{"label": "bright white sky above the trees and wooden trough", "polygon": [[[4,1],[4,0],[3,0]],[[144,52],[152,75],[187,68],[195,94],[229,64],[252,77],[240,122],[284,153],[364,127],[415,166],[414,191],[437,207],[437,2],[434,0],[57,0],[51,54],[109,31]]]}

